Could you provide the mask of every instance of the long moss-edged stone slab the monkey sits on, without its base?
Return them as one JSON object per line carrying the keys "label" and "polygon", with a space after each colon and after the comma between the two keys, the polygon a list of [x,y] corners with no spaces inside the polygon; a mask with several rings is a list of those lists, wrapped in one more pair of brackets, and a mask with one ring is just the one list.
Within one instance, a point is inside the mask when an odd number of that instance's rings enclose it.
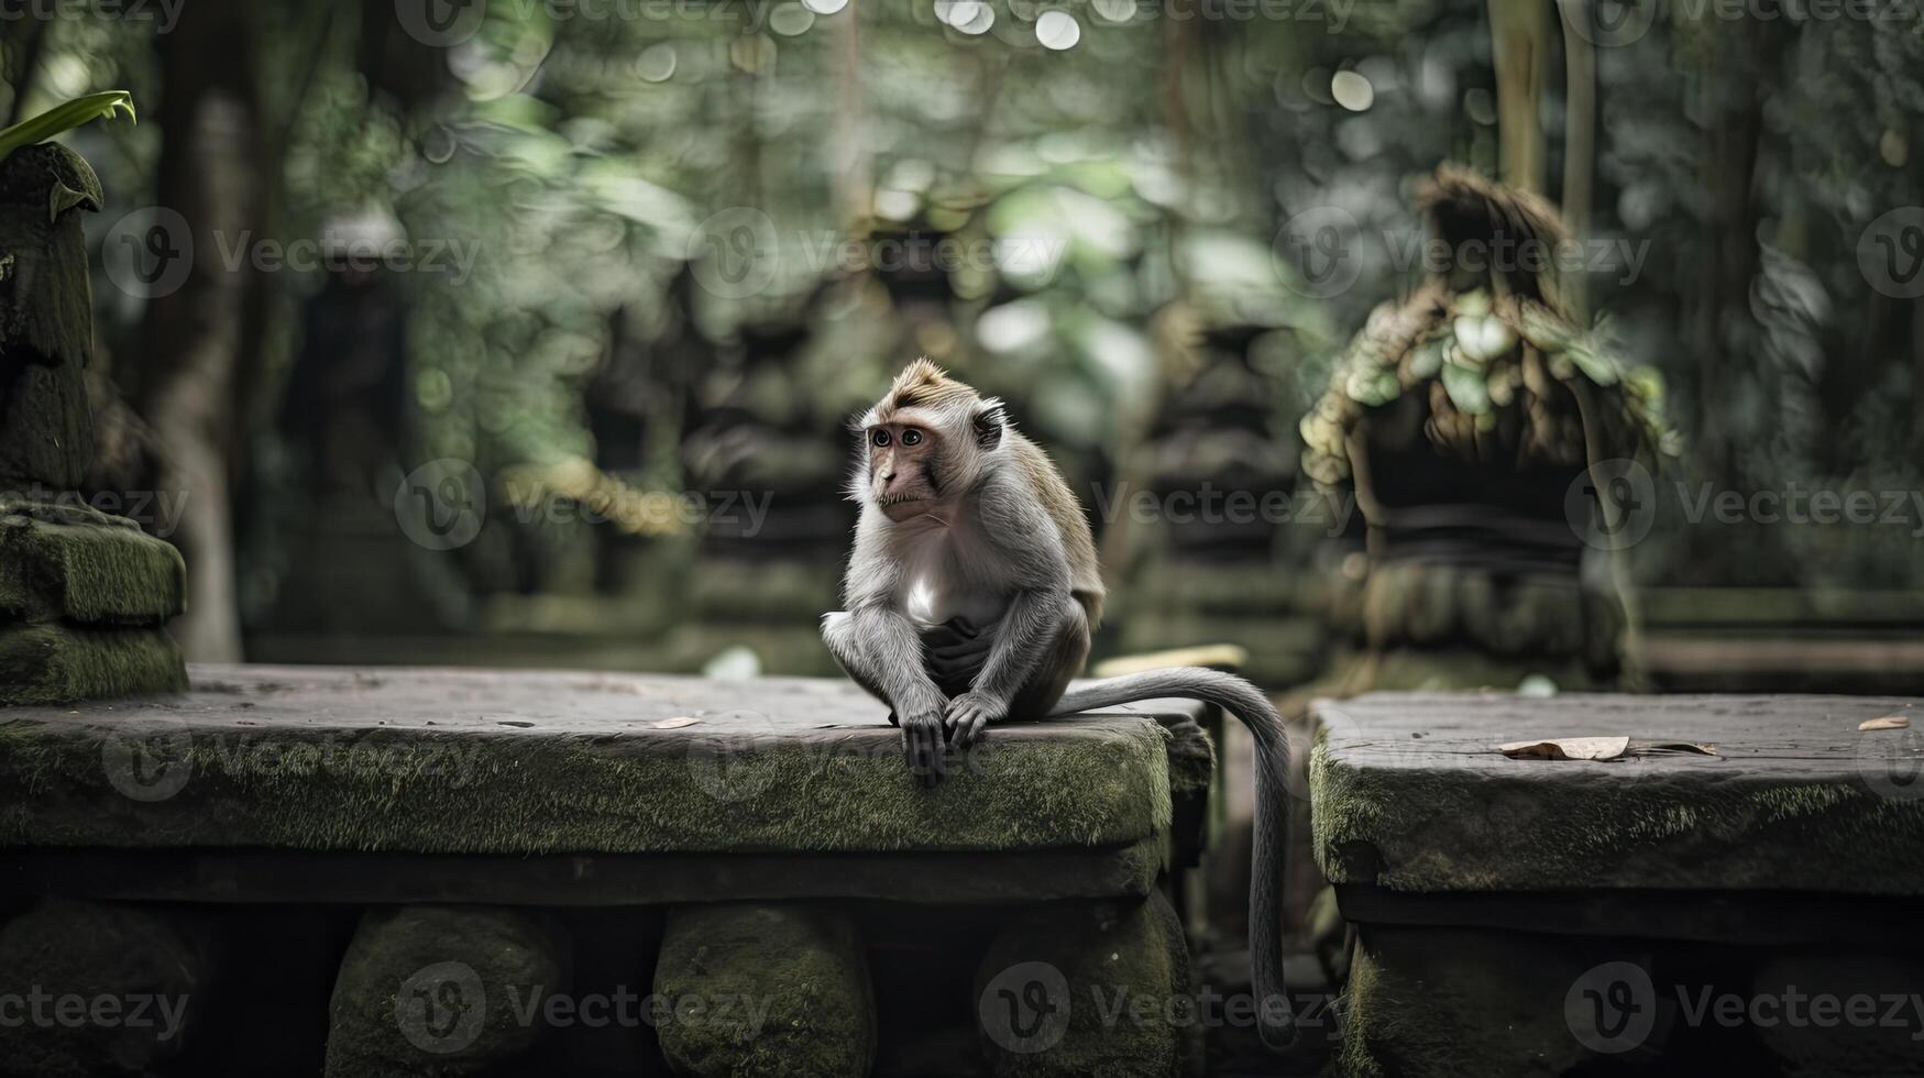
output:
{"label": "long moss-edged stone slab the monkey sits on, without its base", "polygon": [[1170,826],[1152,712],[1010,722],[922,789],[841,680],[200,666],[0,712],[0,845],[410,853],[1037,851]]}

